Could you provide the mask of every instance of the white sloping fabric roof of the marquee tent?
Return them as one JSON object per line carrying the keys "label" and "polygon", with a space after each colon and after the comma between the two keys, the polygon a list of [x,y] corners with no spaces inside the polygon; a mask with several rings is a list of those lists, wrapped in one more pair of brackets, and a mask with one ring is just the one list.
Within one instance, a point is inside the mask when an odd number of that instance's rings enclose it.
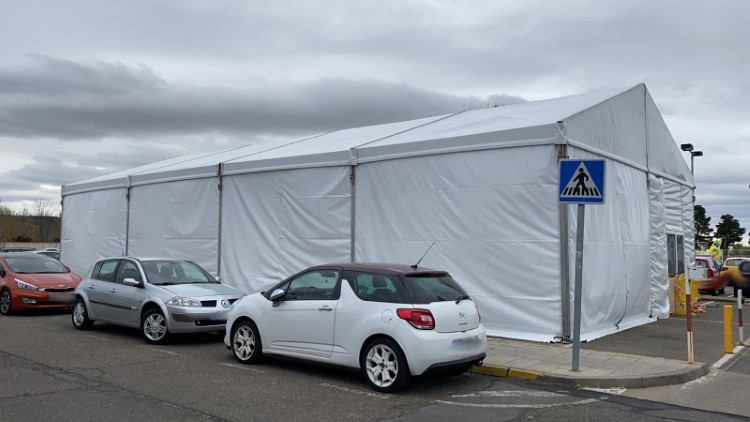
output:
{"label": "white sloping fabric roof of the marquee tent", "polygon": [[[629,89],[592,91],[405,122],[342,129],[302,139],[263,142],[162,160],[71,183],[63,186],[62,193],[65,196],[90,190],[211,177],[218,175],[220,171],[229,175],[291,168],[354,165],[416,155],[564,143],[566,139],[560,138],[557,133],[558,122],[574,116],[584,116],[589,110],[611,102],[614,98],[633,96],[634,90],[642,90],[650,99],[645,85],[640,84]],[[640,107],[643,107],[643,104],[640,104]],[[656,110],[655,107],[652,108]],[[658,110],[655,113],[658,114]],[[671,135],[661,116],[657,117],[650,120],[653,120],[652,125],[656,122],[663,126],[658,141],[668,143]],[[679,156],[676,145],[666,145],[664,150],[665,153],[662,155],[669,160],[674,160],[675,154]],[[669,173],[679,179],[688,180],[683,174],[687,168],[686,164],[684,159],[681,161],[671,165]]]}

